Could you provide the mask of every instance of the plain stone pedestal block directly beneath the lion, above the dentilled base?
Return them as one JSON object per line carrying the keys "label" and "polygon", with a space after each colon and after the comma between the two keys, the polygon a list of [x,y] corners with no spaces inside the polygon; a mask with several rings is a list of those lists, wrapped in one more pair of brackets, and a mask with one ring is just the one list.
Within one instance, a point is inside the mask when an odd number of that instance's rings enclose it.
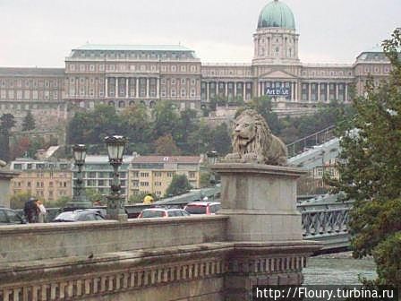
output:
{"label": "plain stone pedestal block directly beneath the lion, above the dentilled base", "polygon": [[230,217],[227,238],[242,242],[301,241],[296,209],[296,180],[306,171],[252,163],[218,163],[221,176],[219,214]]}

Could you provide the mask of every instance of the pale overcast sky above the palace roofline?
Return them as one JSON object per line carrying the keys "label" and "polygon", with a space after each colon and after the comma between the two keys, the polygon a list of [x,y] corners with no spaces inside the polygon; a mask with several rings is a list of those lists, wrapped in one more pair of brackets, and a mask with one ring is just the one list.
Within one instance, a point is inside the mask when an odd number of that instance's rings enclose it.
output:
{"label": "pale overcast sky above the palace roofline", "polygon": [[[280,0],[281,1],[281,0]],[[401,0],[286,0],[303,63],[353,63],[401,26]],[[64,66],[73,47],[179,44],[250,63],[266,0],[0,0],[0,66]]]}

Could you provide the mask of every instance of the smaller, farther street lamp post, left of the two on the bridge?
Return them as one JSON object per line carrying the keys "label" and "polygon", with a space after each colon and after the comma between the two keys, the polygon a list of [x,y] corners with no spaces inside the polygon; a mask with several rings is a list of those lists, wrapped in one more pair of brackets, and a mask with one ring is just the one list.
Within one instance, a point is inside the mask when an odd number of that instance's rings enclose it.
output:
{"label": "smaller, farther street lamp post, left of the two on the bridge", "polygon": [[82,168],[85,165],[86,146],[84,144],[75,144],[73,146],[74,165],[78,168],[77,180],[73,191],[73,200],[67,204],[72,209],[90,208],[91,202],[88,201],[85,193],[85,187],[82,180]]}

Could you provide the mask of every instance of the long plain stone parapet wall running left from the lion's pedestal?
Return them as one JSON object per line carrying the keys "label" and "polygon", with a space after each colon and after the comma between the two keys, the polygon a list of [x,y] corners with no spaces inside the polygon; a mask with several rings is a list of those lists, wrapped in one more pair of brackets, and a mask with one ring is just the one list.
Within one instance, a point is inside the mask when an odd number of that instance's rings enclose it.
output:
{"label": "long plain stone parapet wall running left from the lion's pedestal", "polygon": [[130,219],[0,227],[0,266],[226,239],[226,217]]}

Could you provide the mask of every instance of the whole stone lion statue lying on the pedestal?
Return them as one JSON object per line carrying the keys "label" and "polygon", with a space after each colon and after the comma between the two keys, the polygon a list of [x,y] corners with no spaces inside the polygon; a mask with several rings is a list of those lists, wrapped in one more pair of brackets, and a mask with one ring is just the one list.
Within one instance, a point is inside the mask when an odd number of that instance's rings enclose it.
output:
{"label": "whole stone lion statue lying on the pedestal", "polygon": [[246,109],[235,118],[232,136],[234,152],[226,155],[226,160],[286,165],[286,145],[254,109]]}

